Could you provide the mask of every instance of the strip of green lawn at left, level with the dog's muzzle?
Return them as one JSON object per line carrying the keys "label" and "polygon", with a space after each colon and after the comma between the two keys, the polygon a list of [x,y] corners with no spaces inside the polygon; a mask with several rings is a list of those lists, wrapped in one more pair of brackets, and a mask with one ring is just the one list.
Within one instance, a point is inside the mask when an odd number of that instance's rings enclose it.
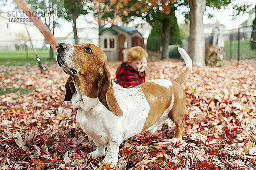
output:
{"label": "strip of green lawn at left, level with the dog's muzzle", "polygon": [[[49,50],[47,49],[37,49],[38,57],[41,59],[42,63],[54,63],[55,60],[49,61]],[[56,57],[56,52],[53,52],[54,58]],[[25,50],[19,51],[1,51],[0,52],[0,65],[24,65],[25,63],[30,63],[31,65],[37,64],[35,54],[33,50],[28,50],[28,57],[26,57]]]}

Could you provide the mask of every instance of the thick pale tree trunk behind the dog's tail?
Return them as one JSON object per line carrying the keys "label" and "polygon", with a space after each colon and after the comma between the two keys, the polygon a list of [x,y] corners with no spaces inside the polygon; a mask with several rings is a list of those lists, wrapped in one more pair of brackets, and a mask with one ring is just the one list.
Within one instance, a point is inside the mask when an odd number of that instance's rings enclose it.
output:
{"label": "thick pale tree trunk behind the dog's tail", "polygon": [[190,30],[189,55],[196,66],[205,66],[204,60],[204,23],[203,16],[206,0],[189,0]]}

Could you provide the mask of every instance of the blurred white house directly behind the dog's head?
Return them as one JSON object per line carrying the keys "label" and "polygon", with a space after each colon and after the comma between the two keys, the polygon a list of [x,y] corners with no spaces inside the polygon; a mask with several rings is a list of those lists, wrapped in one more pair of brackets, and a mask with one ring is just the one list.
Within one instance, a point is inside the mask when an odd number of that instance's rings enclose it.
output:
{"label": "blurred white house directly behind the dog's head", "polygon": [[[99,29],[96,27],[77,28],[79,43],[93,43],[99,46]],[[71,31],[67,37],[59,37],[58,40],[64,43],[75,44],[74,32]]]}

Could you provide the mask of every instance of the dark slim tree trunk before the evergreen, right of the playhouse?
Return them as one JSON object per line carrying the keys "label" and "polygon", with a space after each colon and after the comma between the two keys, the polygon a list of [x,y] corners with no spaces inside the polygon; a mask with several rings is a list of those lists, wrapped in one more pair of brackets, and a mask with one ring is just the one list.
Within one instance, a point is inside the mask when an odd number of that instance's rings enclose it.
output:
{"label": "dark slim tree trunk before the evergreen, right of the playhouse", "polygon": [[164,18],[163,19],[163,29],[161,30],[162,34],[162,56],[161,59],[164,58],[169,58],[169,51],[168,51],[168,46],[170,43],[170,23],[169,23],[169,18]]}

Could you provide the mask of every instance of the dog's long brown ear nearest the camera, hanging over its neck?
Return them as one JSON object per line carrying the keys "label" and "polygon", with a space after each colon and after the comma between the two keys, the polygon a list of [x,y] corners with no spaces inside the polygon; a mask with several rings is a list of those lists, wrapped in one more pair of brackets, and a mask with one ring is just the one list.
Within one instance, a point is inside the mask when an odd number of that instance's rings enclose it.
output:
{"label": "dog's long brown ear nearest the camera, hanging over its neck", "polygon": [[110,72],[106,64],[104,64],[103,68],[98,68],[97,74],[99,76],[97,94],[99,101],[115,115],[122,116],[123,112],[117,104]]}

